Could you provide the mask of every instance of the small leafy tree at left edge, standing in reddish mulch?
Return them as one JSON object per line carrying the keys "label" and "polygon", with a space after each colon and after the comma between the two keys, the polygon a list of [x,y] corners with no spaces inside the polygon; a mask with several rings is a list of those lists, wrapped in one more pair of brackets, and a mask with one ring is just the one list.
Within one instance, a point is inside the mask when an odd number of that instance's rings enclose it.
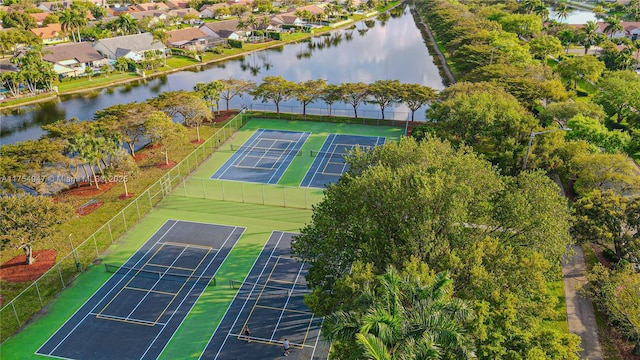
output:
{"label": "small leafy tree at left edge, standing in reddish mulch", "polygon": [[67,222],[73,210],[47,196],[0,196],[0,249],[24,251],[26,265],[33,264],[33,247],[58,236],[58,225]]}

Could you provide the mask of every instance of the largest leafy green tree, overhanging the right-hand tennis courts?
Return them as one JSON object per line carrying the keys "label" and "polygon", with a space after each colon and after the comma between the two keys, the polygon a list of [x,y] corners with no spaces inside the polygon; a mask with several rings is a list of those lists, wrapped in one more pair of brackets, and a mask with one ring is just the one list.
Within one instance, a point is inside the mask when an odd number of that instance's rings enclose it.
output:
{"label": "largest leafy green tree, overhanging the right-hand tennis courts", "polygon": [[[469,148],[435,139],[403,139],[356,152],[348,162],[351,170],[327,189],[292,245],[294,255],[311,263],[314,311],[327,314],[351,303],[338,282],[355,262],[382,274],[415,257],[434,271],[452,271],[456,291],[477,301],[484,315],[476,340],[484,358],[504,355],[495,346],[529,351],[517,344],[545,337],[540,317],[552,316],[555,304],[545,281],[571,241],[570,215],[551,180],[540,172],[501,176]],[[570,344],[569,354],[577,346],[571,336],[547,339]]]}

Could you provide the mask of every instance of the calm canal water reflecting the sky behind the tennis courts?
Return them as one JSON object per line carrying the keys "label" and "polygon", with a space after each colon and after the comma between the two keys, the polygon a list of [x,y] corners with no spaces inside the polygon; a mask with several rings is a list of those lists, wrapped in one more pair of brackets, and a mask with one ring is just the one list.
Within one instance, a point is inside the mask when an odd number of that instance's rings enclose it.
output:
{"label": "calm canal water reflecting the sky behind the tennis courts", "polygon": [[[40,127],[43,124],[72,117],[88,120],[97,110],[111,105],[145,101],[164,91],[193,90],[198,82],[229,77],[254,80],[256,83],[269,75],[282,76],[294,82],[322,78],[334,84],[397,79],[403,83],[428,85],[436,90],[444,88],[433,57],[408,9],[386,21],[376,19],[368,24],[360,22],[355,24],[354,29],[335,30],[326,35],[255,52],[239,59],[205,65],[200,69],[22,107],[0,118],[0,142],[37,139],[43,134]],[[221,106],[224,108],[224,101]],[[254,104],[247,95],[233,99],[231,107],[240,106],[263,108],[263,104]],[[292,107],[298,106],[296,101],[283,103],[281,111],[296,110]],[[326,109],[322,103],[308,107]],[[334,112],[353,114],[351,107],[346,104],[334,104],[333,108]],[[374,105],[364,104],[359,108],[358,115],[374,117],[376,109]],[[416,120],[424,119],[424,110],[416,112]],[[313,109],[309,112],[313,112]],[[398,106],[386,109],[385,117],[407,119],[410,114],[406,107]]]}

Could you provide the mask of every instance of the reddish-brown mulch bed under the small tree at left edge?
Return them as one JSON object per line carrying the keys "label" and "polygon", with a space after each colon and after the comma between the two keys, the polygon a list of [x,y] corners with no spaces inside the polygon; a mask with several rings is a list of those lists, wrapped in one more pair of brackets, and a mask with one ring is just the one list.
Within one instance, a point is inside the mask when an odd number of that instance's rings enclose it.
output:
{"label": "reddish-brown mulch bed under the small tree at left edge", "polygon": [[26,265],[26,256],[18,255],[0,265],[0,279],[11,282],[33,281],[39,278],[56,263],[56,251],[38,250],[33,252],[36,262]]}

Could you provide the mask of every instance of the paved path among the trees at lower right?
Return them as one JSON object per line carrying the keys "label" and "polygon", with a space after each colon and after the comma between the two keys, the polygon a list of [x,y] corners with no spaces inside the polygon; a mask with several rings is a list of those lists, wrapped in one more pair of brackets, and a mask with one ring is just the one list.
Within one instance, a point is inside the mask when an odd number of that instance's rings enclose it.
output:
{"label": "paved path among the trees at lower right", "polygon": [[572,246],[575,255],[565,256],[562,261],[564,295],[567,299],[569,331],[582,338],[580,359],[602,360],[602,349],[598,339],[598,326],[589,299],[578,294],[578,289],[587,283],[587,266],[579,246]]}

